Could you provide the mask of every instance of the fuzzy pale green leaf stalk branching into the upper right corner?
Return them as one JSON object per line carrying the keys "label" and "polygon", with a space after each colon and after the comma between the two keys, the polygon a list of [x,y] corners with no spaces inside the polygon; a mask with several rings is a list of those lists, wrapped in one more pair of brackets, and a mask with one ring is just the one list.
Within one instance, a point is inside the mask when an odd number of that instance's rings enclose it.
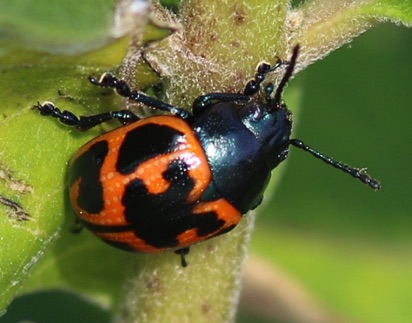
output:
{"label": "fuzzy pale green leaf stalk branching into the upper right corner", "polygon": [[301,44],[304,68],[385,21],[411,26],[411,0],[309,0],[289,12],[289,39]]}

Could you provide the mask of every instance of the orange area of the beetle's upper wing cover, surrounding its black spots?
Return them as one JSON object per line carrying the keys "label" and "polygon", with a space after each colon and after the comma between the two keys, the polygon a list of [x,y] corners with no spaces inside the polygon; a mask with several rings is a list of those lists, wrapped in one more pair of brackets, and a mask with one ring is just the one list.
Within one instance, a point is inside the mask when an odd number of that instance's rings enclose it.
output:
{"label": "orange area of the beetle's upper wing cover, surrounding its black spots", "polygon": [[[155,121],[152,119],[155,118]],[[102,199],[104,207],[99,214],[88,214],[79,208],[75,208],[77,214],[84,221],[92,224],[110,223],[113,225],[127,225],[128,223],[122,216],[125,208],[122,204],[122,198],[125,194],[125,187],[135,179],[143,182],[149,194],[161,194],[171,185],[163,177],[163,172],[167,170],[168,165],[177,159],[182,159],[189,165],[189,176],[194,180],[194,188],[187,197],[187,203],[197,201],[211,180],[211,171],[206,159],[206,155],[198,139],[193,133],[190,126],[183,120],[171,116],[157,116],[140,120],[138,123],[132,123],[120,128],[114,132],[106,133],[90,141],[80,148],[77,156],[87,151],[93,144],[101,140],[107,140],[108,153],[101,167],[100,181],[103,187]],[[138,165],[134,172],[130,174],[120,174],[116,171],[116,163],[119,154],[119,148],[124,142],[127,133],[137,126],[154,123],[156,125],[165,125],[185,134],[179,138],[180,142],[177,149],[172,152],[156,156],[146,162]],[[142,138],[145,140],[146,138]],[[149,140],[149,139],[148,139]],[[76,201],[78,197],[78,183],[71,187],[71,200]],[[72,203],[74,206],[76,203]],[[138,210],[136,210],[138,212]]]}

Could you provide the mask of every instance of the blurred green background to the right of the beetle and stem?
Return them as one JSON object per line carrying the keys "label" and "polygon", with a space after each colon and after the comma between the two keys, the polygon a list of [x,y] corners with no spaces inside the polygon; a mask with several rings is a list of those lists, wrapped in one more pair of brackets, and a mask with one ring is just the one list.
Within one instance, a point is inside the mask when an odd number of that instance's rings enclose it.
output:
{"label": "blurred green background to the right of the beetle and stem", "polygon": [[367,167],[382,189],[291,148],[259,210],[251,253],[336,321],[412,322],[412,32],[373,28],[297,75],[295,86],[293,137]]}

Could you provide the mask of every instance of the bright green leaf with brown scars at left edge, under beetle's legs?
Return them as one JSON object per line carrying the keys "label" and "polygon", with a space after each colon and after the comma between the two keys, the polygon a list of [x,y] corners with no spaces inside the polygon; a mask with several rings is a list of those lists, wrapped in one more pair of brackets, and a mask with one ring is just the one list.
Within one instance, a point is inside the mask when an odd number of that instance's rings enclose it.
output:
{"label": "bright green leaf with brown scars at left edge, under beetle's legs", "polygon": [[7,89],[0,127],[2,306],[59,235],[67,205],[67,161],[79,145],[98,133],[70,134],[54,120],[41,118],[32,106],[41,98],[77,112],[85,111],[83,104],[97,111],[98,100],[88,102],[93,91],[85,90],[85,73],[87,69],[47,64],[2,69],[0,86]]}

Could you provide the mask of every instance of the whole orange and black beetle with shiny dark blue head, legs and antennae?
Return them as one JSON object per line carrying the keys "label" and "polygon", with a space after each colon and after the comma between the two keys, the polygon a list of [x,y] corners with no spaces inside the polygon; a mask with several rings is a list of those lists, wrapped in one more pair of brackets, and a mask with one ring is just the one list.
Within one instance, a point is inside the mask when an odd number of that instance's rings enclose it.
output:
{"label": "whole orange and black beetle with shiny dark blue head, legs and antennae", "polygon": [[[292,114],[282,101],[299,45],[290,61],[258,66],[243,93],[201,95],[192,111],[131,90],[109,73],[90,82],[169,115],[139,118],[129,110],[76,117],[50,102],[35,109],[85,131],[108,120],[123,126],[81,147],[70,161],[70,201],[81,222],[104,242],[144,253],[174,250],[232,230],[262,201],[271,171],[288,156],[289,146],[303,149],[378,190],[362,169],[327,157],[290,139]],[[265,76],[281,65],[285,74],[259,92]]]}

